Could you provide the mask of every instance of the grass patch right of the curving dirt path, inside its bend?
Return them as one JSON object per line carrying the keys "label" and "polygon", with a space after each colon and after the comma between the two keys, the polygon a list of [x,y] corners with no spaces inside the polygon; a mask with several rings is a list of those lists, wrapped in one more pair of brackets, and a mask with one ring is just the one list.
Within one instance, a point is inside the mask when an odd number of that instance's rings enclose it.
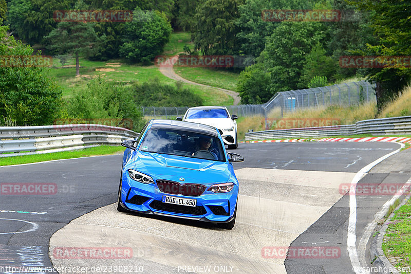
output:
{"label": "grass patch right of the curving dirt path, inside its bend", "polygon": [[229,90],[235,90],[239,74],[223,69],[202,67],[174,67],[176,74],[184,79]]}

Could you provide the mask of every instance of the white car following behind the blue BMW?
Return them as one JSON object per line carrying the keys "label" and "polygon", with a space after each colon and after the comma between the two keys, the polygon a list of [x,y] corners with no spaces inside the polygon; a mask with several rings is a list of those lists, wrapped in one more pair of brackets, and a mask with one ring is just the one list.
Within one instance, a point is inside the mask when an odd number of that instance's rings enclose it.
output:
{"label": "white car following behind the blue BMW", "polygon": [[237,115],[230,116],[225,106],[196,106],[187,109],[183,117],[177,120],[207,124],[220,130],[222,140],[229,149],[238,147]]}

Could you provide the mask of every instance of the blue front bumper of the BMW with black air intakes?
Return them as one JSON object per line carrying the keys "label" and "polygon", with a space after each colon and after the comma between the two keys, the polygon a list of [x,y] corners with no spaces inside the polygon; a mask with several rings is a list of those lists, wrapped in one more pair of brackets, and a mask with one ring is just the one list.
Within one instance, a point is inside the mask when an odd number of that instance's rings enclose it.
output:
{"label": "blue front bumper of the BMW with black air intakes", "polygon": [[[163,195],[196,199],[196,207],[162,203]],[[120,204],[127,210],[173,216],[203,222],[227,223],[234,217],[238,186],[228,193],[206,190],[198,197],[169,194],[159,191],[157,184],[142,184],[124,176]]]}

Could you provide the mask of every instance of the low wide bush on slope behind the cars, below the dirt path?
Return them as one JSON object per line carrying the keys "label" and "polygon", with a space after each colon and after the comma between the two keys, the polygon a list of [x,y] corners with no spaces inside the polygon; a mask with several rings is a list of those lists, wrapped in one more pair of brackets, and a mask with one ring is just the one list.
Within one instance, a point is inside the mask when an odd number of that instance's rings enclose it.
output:
{"label": "low wide bush on slope behind the cars, below the dirt path", "polygon": [[200,106],[202,99],[184,88],[181,82],[176,85],[162,84],[156,78],[142,84],[135,83],[132,88],[133,98],[139,106]]}

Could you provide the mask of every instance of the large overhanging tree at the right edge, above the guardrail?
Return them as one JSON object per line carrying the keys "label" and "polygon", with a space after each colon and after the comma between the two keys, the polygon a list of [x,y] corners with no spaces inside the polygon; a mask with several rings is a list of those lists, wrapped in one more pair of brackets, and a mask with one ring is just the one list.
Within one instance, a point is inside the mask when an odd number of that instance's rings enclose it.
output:
{"label": "large overhanging tree at the right edge, above the guardrail", "polygon": [[[349,1],[363,12],[370,12],[371,28],[378,38],[367,44],[365,50],[355,51],[364,56],[409,56],[411,54],[411,2],[407,0]],[[364,70],[366,78],[376,83],[378,114],[384,105],[411,81],[409,66],[370,68]]]}

